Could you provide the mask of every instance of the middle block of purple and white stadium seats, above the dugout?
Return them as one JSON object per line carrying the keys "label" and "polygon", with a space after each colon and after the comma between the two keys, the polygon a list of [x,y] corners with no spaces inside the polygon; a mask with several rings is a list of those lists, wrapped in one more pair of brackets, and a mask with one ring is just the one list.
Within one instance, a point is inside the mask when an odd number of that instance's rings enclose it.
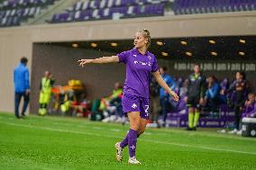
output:
{"label": "middle block of purple and white stadium seats, above the dugout", "polygon": [[81,22],[105,19],[164,15],[168,0],[93,0],[79,1],[63,13],[56,13],[49,22]]}

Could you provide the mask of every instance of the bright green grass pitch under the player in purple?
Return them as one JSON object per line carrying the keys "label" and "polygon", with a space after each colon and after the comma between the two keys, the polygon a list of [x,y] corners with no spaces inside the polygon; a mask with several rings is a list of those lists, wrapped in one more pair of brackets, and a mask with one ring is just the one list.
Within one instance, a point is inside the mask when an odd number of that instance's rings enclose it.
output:
{"label": "bright green grass pitch under the player in purple", "polygon": [[115,161],[114,144],[128,126],[67,117],[0,113],[0,169],[256,169],[256,139],[215,130],[146,130],[140,166]]}

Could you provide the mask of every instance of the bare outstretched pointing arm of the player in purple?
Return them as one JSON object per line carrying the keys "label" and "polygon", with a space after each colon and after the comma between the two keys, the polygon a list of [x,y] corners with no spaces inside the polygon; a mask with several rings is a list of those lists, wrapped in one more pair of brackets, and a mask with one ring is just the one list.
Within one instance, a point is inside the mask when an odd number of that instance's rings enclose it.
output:
{"label": "bare outstretched pointing arm of the player in purple", "polygon": [[117,63],[119,58],[117,56],[95,58],[95,59],[79,59],[78,63],[80,67],[84,67],[87,64],[105,64],[105,63]]}

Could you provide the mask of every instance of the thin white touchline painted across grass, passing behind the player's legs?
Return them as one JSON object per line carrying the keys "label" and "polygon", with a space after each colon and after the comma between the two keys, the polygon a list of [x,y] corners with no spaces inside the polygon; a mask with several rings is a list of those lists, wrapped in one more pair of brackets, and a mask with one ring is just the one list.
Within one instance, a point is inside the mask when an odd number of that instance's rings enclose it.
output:
{"label": "thin white touchline painted across grass, passing behind the player's legs", "polygon": [[[121,137],[114,136],[114,135],[103,135],[103,134],[96,134],[96,133],[82,132],[82,131],[74,131],[74,130],[59,130],[59,129],[37,127],[37,126],[33,126],[33,125],[23,125],[23,124],[17,124],[17,123],[11,123],[11,122],[3,122],[3,121],[2,121],[2,123],[8,124],[8,125],[13,125],[13,126],[20,126],[20,127],[26,127],[26,128],[39,129],[39,130],[52,130],[52,131],[60,131],[60,132],[68,132],[68,133],[91,135],[91,136],[97,136],[97,137],[107,137],[107,138],[114,138],[114,139],[122,139]],[[231,150],[231,149],[223,149],[223,148],[198,147],[198,146],[192,146],[192,145],[186,145],[186,144],[156,141],[156,140],[151,140],[151,139],[138,139],[138,140],[146,141],[146,142],[151,142],[151,143],[158,143],[158,144],[174,145],[174,146],[185,147],[185,148],[201,148],[201,149],[207,149],[207,150],[233,152],[233,153],[247,154],[247,155],[253,155],[253,156],[256,155],[255,152],[245,152],[245,151],[240,151],[240,150]]]}

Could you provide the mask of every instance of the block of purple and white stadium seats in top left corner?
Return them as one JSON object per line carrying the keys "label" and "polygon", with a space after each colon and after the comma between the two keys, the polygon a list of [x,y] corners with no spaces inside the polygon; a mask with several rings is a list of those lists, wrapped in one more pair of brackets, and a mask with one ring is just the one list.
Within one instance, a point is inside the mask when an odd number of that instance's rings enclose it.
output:
{"label": "block of purple and white stadium seats in top left corner", "polygon": [[56,0],[5,0],[0,2],[0,27],[21,25]]}

